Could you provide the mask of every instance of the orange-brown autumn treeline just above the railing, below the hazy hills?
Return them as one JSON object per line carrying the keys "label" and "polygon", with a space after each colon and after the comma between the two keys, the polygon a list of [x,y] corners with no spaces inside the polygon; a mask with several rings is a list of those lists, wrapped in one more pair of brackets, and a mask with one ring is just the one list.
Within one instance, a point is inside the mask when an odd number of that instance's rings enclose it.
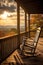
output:
{"label": "orange-brown autumn treeline just above the railing, below the hazy hills", "polygon": [[13,34],[16,34],[16,33],[17,33],[17,30],[15,28],[0,30],[0,37],[13,35]]}

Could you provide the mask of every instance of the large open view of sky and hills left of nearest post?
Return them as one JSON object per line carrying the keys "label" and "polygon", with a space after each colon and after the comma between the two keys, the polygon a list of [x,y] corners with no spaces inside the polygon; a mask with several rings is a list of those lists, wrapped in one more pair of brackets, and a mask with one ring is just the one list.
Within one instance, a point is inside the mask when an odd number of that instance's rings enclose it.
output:
{"label": "large open view of sky and hills left of nearest post", "polygon": [[[13,35],[17,33],[17,3],[5,0],[0,10],[0,37]],[[6,8],[5,8],[6,7]]]}

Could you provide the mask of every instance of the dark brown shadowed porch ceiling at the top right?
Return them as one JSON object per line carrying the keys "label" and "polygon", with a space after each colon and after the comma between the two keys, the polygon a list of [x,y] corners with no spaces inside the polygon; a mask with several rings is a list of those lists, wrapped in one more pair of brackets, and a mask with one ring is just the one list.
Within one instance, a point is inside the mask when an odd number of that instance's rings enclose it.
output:
{"label": "dark brown shadowed porch ceiling at the top right", "polygon": [[28,13],[43,13],[42,0],[15,0]]}

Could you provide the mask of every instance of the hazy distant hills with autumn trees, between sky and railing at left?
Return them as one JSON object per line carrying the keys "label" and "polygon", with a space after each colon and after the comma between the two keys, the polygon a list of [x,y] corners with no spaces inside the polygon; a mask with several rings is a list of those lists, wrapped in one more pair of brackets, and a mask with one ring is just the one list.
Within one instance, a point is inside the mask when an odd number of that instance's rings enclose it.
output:
{"label": "hazy distant hills with autumn trees, between sky and railing at left", "polygon": [[9,36],[17,33],[13,26],[0,26],[0,37]]}

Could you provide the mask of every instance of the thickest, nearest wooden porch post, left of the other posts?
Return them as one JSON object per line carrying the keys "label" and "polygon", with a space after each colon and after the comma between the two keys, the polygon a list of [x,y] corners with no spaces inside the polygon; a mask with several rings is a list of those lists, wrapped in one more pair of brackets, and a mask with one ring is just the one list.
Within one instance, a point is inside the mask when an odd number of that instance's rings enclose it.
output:
{"label": "thickest, nearest wooden porch post, left of the other posts", "polygon": [[17,32],[18,32],[18,43],[20,44],[20,8],[17,3]]}

